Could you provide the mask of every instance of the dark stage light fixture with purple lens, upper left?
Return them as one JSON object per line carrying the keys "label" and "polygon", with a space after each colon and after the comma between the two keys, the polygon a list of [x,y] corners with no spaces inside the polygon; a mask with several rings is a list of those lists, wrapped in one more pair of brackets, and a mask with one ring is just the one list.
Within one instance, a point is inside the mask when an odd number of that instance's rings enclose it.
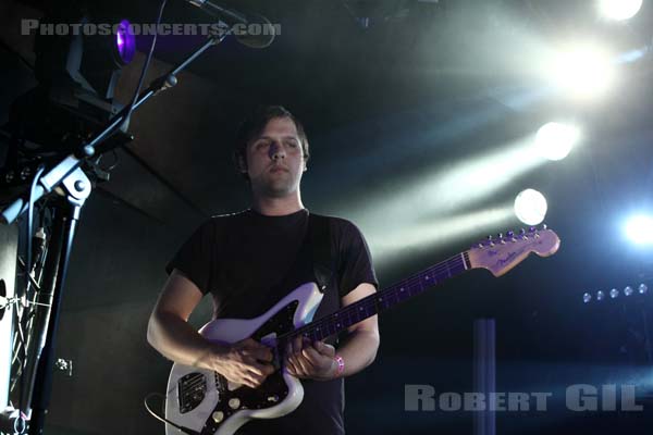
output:
{"label": "dark stage light fixture with purple lens, upper left", "polygon": [[[36,35],[34,75],[38,84],[14,100],[10,122],[2,126],[12,137],[12,146],[21,149],[21,156],[13,153],[8,166],[16,167],[19,160],[24,164],[45,153],[70,153],[123,108],[114,95],[123,66],[136,51],[130,22],[122,20],[111,32],[99,32],[106,24],[102,18],[93,18],[77,7],[67,4],[56,16],[40,21],[54,28],[72,23],[89,30]],[[131,139],[127,128],[128,123],[123,123],[112,138],[126,142]],[[25,141],[32,142],[28,149],[21,146]]]}

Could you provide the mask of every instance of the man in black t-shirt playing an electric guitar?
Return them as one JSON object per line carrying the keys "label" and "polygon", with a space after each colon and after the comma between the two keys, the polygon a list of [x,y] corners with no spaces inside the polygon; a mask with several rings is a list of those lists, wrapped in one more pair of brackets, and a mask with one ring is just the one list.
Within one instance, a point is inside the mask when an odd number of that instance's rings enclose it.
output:
{"label": "man in black t-shirt playing an electric guitar", "polygon": [[[346,152],[343,150],[343,152]],[[315,282],[315,259],[326,250],[333,264],[313,318],[375,293],[369,249],[350,222],[304,208],[300,181],[309,158],[301,124],[282,107],[257,109],[241,126],[234,152],[251,188],[251,209],[211,217],[168,264],[169,279],[153,309],[147,338],[175,363],[214,371],[230,383],[259,387],[278,370],[303,380],[299,407],[279,419],[255,420],[237,434],[344,434],[343,377],[372,363],[379,347],[377,315],[340,337],[311,343],[297,337],[273,363],[269,346],[252,338],[215,343],[187,320],[211,294],[214,319],[261,315],[297,285]],[[318,220],[322,223],[320,231]],[[320,236],[310,237],[310,234]],[[317,246],[317,245],[326,245]]]}

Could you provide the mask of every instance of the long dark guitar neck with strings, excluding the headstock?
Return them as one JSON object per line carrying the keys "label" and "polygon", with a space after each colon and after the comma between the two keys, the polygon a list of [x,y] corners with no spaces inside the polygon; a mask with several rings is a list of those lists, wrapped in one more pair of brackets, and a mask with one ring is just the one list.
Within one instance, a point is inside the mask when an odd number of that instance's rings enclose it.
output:
{"label": "long dark guitar neck with strings, excluding the headstock", "polygon": [[471,269],[469,252],[464,251],[280,338],[289,340],[303,335],[311,341],[324,339],[414,296],[421,295],[427,289],[468,269]]}

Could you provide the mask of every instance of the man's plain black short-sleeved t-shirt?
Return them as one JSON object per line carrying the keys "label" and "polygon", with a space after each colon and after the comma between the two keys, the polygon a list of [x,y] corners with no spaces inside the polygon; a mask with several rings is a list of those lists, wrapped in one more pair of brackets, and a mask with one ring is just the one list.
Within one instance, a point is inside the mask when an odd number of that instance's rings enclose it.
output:
{"label": "man's plain black short-sleeved t-shirt", "polygon": [[[315,315],[340,307],[340,298],[361,283],[378,286],[368,246],[349,221],[328,217],[331,258],[336,278]],[[306,209],[284,216],[254,210],[214,216],[205,222],[167,265],[182,272],[205,294],[211,294],[213,318],[250,319],[264,313],[296,287],[285,288],[308,233]],[[301,284],[297,282],[297,284]],[[344,433],[344,384],[303,381],[303,403],[291,414],[247,423],[238,434]],[[276,431],[276,432],[274,432]]]}

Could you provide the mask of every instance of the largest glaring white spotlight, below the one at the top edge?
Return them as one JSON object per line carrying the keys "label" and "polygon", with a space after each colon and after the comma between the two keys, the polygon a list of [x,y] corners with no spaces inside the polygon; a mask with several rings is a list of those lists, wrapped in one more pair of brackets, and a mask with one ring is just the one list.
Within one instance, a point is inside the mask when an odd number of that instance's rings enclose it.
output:
{"label": "largest glaring white spotlight, below the one at the top edge", "polygon": [[562,91],[588,99],[609,88],[614,82],[614,62],[607,51],[599,47],[578,45],[554,57],[549,73]]}

